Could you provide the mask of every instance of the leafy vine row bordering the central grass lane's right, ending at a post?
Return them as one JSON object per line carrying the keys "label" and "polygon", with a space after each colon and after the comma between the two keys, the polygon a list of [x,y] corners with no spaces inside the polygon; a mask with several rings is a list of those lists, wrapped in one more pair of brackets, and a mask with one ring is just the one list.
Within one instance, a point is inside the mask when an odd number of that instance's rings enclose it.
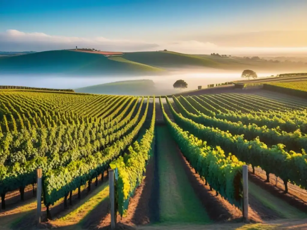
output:
{"label": "leafy vine row bordering the central grass lane's right, ending at a post", "polygon": [[[166,100],[170,106],[168,98]],[[234,155],[230,154],[226,157],[224,151],[219,146],[216,146],[214,149],[208,146],[207,142],[203,142],[192,134],[189,134],[189,132],[183,131],[176,123],[169,119],[161,103],[161,98],[160,104],[163,117],[173,138],[192,167],[222,197],[227,199],[231,204],[241,208],[243,192],[241,178],[244,163],[239,161]],[[172,107],[170,108],[173,109]]]}

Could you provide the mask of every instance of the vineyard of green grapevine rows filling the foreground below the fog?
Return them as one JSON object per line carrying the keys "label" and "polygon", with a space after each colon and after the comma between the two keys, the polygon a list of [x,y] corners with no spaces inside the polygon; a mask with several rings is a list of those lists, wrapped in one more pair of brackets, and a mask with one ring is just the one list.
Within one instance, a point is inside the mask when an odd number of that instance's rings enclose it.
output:
{"label": "vineyard of green grapevine rows filling the foreground below the fog", "polygon": [[118,223],[240,227],[245,164],[249,220],[305,221],[307,101],[274,95],[1,90],[0,223],[36,226],[41,169],[44,228],[105,227],[114,170]]}

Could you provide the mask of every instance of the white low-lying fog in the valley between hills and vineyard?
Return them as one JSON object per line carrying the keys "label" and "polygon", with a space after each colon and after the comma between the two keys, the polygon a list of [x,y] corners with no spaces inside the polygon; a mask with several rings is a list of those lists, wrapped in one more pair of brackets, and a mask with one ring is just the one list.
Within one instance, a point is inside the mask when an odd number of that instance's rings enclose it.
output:
{"label": "white low-lying fog in the valley between hills and vineyard", "polygon": [[[258,77],[267,77],[277,73],[257,73]],[[227,81],[239,80],[241,72],[204,72],[204,71],[171,71],[164,76],[59,76],[59,75],[0,75],[0,85],[32,86],[45,88],[76,89],[85,86],[92,86],[108,82],[123,80],[150,79],[155,82],[158,89],[167,90],[174,93],[173,83],[178,79],[183,79],[188,83],[186,90],[195,90],[197,86],[206,88],[208,84],[216,84]]]}

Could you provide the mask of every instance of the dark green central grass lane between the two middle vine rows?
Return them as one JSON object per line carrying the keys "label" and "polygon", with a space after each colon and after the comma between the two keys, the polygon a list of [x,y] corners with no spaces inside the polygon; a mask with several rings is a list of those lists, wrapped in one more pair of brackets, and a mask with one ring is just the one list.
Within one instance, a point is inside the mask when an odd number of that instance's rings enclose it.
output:
{"label": "dark green central grass lane between the two middle vine rows", "polygon": [[205,209],[190,186],[166,127],[157,127],[160,182],[160,222],[210,223]]}

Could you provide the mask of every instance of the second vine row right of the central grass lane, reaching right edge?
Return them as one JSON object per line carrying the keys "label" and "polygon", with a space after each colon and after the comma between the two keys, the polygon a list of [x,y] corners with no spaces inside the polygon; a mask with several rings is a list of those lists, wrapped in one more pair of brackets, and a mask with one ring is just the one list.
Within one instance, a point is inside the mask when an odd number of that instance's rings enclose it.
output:
{"label": "second vine row right of the central grass lane, reaching right edge", "polygon": [[[291,181],[306,188],[307,186],[307,155],[305,151],[296,153],[285,151],[283,144],[273,145],[268,148],[266,144],[255,140],[244,140],[243,135],[231,135],[228,131],[221,131],[218,128],[211,128],[198,124],[181,114],[176,113],[172,105],[168,102],[173,117],[178,125],[186,131],[192,133],[201,140],[206,140],[211,146],[220,146],[227,149],[239,160],[260,166],[267,173],[273,173],[282,178],[285,182]],[[291,170],[285,170],[291,169]]]}

